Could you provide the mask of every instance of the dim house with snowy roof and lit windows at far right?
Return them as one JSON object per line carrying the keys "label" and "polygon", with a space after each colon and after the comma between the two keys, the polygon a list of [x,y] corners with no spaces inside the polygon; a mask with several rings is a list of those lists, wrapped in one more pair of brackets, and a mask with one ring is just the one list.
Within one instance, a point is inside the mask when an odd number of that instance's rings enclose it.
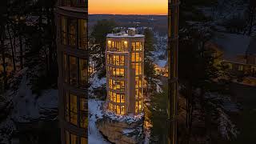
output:
{"label": "dim house with snowy roof and lit windows at far right", "polygon": [[216,33],[206,46],[217,51],[231,72],[256,86],[256,37]]}

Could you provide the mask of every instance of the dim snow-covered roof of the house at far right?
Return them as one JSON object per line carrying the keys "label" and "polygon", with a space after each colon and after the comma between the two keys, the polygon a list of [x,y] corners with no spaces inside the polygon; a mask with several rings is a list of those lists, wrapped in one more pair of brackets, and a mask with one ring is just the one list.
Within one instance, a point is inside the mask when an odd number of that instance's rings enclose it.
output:
{"label": "dim snow-covered roof of the house at far right", "polygon": [[220,46],[228,61],[237,61],[236,57],[246,54],[250,45],[250,37],[242,34],[215,33],[212,41]]}

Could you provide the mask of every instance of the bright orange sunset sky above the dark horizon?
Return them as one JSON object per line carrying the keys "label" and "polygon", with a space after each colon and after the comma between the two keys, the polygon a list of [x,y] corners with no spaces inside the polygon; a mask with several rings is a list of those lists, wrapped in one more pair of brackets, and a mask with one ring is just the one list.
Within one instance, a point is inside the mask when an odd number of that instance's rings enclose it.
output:
{"label": "bright orange sunset sky above the dark horizon", "polygon": [[168,0],[88,0],[89,14],[166,15]]}

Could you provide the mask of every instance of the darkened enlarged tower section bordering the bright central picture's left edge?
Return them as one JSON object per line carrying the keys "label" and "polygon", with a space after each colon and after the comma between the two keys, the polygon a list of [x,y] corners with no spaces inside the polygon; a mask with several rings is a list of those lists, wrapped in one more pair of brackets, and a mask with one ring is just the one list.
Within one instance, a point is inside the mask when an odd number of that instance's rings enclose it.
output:
{"label": "darkened enlarged tower section bordering the bright central picture's left edge", "polygon": [[62,144],[86,144],[88,125],[87,0],[58,0],[58,119]]}

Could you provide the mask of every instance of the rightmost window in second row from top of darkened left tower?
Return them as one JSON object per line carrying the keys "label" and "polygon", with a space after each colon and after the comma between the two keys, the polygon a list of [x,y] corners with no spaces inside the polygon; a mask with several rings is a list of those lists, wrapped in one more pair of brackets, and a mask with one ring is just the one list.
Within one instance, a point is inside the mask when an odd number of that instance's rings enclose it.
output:
{"label": "rightmost window in second row from top of darkened left tower", "polygon": [[85,88],[87,85],[87,74],[88,74],[88,70],[87,70],[87,61],[86,59],[79,59],[79,70],[80,70],[80,87]]}

